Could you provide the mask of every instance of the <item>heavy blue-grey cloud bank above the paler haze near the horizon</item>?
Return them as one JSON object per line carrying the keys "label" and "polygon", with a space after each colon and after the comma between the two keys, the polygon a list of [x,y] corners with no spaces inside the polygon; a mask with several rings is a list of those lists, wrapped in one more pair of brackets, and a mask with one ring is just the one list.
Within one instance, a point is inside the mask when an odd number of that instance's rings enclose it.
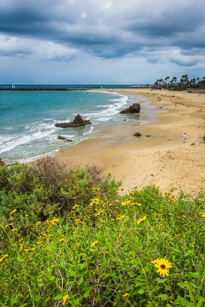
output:
{"label": "heavy blue-grey cloud bank above the paler haze near the horizon", "polygon": [[[203,2],[0,0],[0,33],[19,39],[8,53],[1,42],[0,54],[32,54],[35,48],[31,48],[31,43],[28,46],[24,43],[24,48],[20,44],[24,39],[33,39],[34,44],[38,40],[49,41],[64,49],[62,52],[57,48],[48,59],[52,56],[58,60],[71,59],[74,52],[70,56],[69,51],[65,57],[67,48],[105,59],[139,55],[151,62],[163,59],[179,65],[195,65],[197,59],[190,57],[202,56],[205,49]],[[153,56],[157,50],[158,54]],[[162,50],[170,53],[166,55]]]}

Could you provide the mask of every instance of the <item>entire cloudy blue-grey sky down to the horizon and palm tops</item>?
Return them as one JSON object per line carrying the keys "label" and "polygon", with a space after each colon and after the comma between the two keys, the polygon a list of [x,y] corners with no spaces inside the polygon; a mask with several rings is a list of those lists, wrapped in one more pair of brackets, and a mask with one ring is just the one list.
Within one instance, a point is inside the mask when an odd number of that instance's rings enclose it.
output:
{"label": "entire cloudy blue-grey sky down to the horizon and palm tops", "polygon": [[205,0],[0,0],[0,83],[205,76]]}

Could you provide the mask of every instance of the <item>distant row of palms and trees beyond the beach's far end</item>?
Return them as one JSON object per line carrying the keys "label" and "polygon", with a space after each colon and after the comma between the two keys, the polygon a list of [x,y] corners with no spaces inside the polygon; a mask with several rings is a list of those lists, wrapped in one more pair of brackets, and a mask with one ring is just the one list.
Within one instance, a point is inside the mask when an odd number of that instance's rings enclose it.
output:
{"label": "distant row of palms and trees beyond the beach's far end", "polygon": [[162,89],[175,89],[175,90],[186,90],[186,89],[205,89],[205,77],[200,80],[200,78],[189,79],[188,75],[182,75],[180,80],[173,77],[166,77],[164,80],[162,78],[157,79],[154,86],[159,86]]}

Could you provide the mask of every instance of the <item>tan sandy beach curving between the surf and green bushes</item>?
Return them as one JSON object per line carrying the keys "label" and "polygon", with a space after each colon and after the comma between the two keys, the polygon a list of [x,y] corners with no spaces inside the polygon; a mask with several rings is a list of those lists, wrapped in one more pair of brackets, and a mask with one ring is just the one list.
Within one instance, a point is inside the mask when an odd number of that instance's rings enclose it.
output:
{"label": "tan sandy beach curving between the surf and green bushes", "polygon": [[[158,114],[157,121],[146,125],[133,125],[128,121],[126,127],[105,129],[100,132],[101,138],[59,149],[56,156],[80,165],[97,164],[117,180],[125,176],[122,179],[125,191],[155,184],[162,191],[175,187],[185,192],[198,192],[205,179],[205,144],[202,141],[205,94],[150,89],[119,92],[149,97],[152,104],[160,103],[159,111],[168,112]],[[140,138],[133,136],[137,131],[142,134]],[[183,133],[187,134],[186,143],[183,143]]]}

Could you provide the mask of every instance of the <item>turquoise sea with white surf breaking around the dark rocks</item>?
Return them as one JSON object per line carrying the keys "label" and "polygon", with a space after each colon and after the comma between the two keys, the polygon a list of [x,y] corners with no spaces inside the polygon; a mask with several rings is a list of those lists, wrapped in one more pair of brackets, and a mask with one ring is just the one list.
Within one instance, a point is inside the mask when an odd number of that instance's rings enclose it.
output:
{"label": "turquoise sea with white surf breaking around the dark rocks", "polygon": [[[140,114],[119,114],[134,102],[140,102]],[[108,126],[125,125],[127,121],[145,124],[156,120],[150,102],[145,97],[103,90],[0,91],[0,157],[6,163],[29,162],[91,138],[93,133],[96,136],[97,131]],[[92,125],[55,127],[57,122],[72,121],[77,114],[90,119]],[[58,135],[73,142],[58,140]]]}

